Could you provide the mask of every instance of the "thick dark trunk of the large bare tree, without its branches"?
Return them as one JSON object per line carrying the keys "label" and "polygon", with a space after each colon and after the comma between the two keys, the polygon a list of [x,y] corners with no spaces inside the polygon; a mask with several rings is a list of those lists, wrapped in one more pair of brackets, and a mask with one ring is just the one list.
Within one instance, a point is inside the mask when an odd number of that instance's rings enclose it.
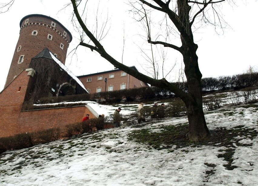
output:
{"label": "thick dark trunk of the large bare tree, without its branches", "polygon": [[198,57],[196,54],[197,45],[193,43],[190,48],[188,47],[189,45],[183,46],[186,48],[183,57],[189,96],[188,99],[184,101],[189,122],[188,137],[190,141],[197,142],[210,135],[203,113],[202,74],[198,66]]}

